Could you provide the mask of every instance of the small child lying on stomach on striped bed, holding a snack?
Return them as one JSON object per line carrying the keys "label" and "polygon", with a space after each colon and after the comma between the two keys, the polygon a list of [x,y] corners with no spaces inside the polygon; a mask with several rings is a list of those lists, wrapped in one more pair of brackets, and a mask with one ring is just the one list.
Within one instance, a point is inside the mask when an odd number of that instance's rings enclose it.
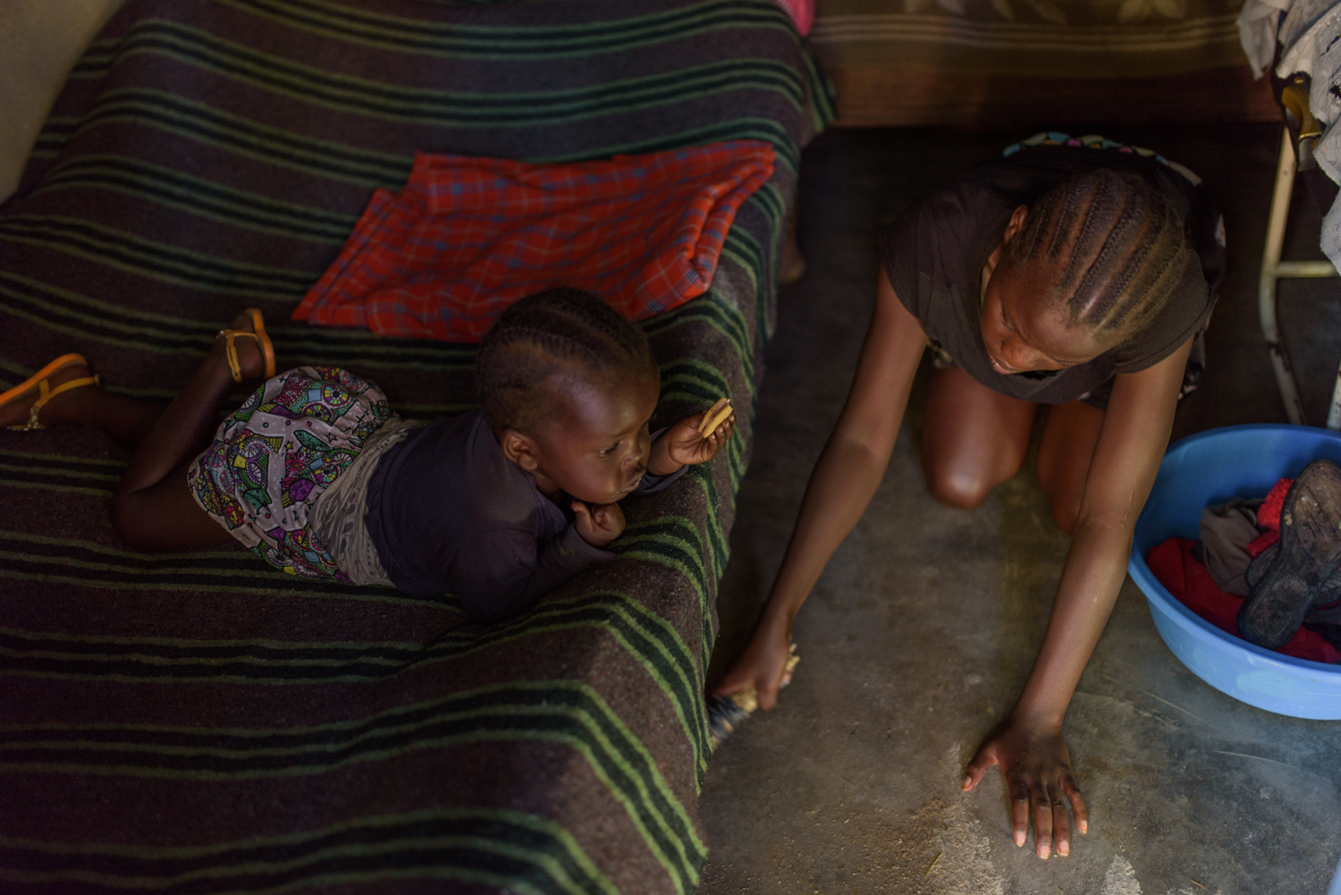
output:
{"label": "small child lying on stomach on striped bed, holding a snack", "polygon": [[[232,384],[263,372],[219,424]],[[731,415],[700,435],[696,413],[649,435],[660,376],[646,335],[570,288],[503,314],[480,345],[475,389],[480,409],[424,425],[346,370],[275,376],[252,309],[166,409],[105,392],[66,354],[0,394],[0,425],[87,423],[133,445],[111,518],[135,549],[232,535],[291,574],[455,593],[483,623],[613,560],[617,502],[711,460],[735,425]]]}

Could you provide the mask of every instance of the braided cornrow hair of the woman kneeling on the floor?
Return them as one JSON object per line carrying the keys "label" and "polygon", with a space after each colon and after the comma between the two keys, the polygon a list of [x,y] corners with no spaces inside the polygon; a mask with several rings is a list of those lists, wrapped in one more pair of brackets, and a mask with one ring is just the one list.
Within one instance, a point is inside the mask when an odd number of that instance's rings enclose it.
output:
{"label": "braided cornrow hair of the woman kneeling on the floor", "polygon": [[1145,329],[1188,268],[1200,271],[1168,200],[1140,174],[1106,168],[1043,193],[1006,255],[1055,270],[1054,301],[1105,344]]}

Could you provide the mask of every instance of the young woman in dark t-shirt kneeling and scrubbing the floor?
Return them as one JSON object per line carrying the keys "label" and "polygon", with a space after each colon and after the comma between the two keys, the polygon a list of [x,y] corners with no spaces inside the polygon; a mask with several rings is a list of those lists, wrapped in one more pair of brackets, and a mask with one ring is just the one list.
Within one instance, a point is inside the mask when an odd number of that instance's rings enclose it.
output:
{"label": "young woman in dark t-shirt kneeling and scrubbing the floor", "polygon": [[[1051,144],[1051,145],[1047,145]],[[924,346],[937,353],[923,466],[972,509],[1014,476],[1047,404],[1038,478],[1070,553],[1034,670],[968,766],[1000,765],[1015,843],[1070,851],[1088,831],[1062,717],[1126,574],[1132,530],[1202,369],[1223,223],[1181,166],[1110,141],[1043,134],[916,203],[881,240],[876,310],[848,404],[810,478],[744,653],[717,687],[771,708],[791,625],[884,476]]]}

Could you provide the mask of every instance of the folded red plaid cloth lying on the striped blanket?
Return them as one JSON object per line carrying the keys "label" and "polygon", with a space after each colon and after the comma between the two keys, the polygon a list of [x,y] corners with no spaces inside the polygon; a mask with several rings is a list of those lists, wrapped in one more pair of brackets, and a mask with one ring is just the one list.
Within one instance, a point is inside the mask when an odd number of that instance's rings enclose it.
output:
{"label": "folded red plaid cloth lying on the striped blanket", "polygon": [[477,342],[508,305],[554,286],[645,319],[707,291],[772,161],[754,140],[575,165],[416,154],[294,319]]}

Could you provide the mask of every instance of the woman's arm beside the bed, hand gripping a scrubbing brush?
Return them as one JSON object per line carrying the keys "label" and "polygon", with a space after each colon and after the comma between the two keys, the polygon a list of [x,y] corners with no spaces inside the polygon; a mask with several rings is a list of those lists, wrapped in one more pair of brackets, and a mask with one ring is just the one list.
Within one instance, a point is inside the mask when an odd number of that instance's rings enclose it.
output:
{"label": "woman's arm beside the bed, hand gripping a scrubbing brush", "polygon": [[881,270],[876,310],[848,403],[810,475],[787,554],[750,645],[715,692],[754,687],[763,708],[776,702],[791,623],[885,476],[925,341],[921,323]]}

